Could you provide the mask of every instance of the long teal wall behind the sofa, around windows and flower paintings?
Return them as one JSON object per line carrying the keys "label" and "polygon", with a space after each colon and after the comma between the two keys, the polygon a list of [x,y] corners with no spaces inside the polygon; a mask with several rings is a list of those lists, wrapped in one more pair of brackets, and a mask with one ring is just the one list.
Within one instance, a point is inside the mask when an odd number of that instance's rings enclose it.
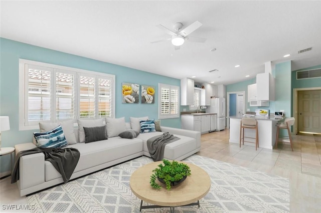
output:
{"label": "long teal wall behind the sofa, around windows and flower paintings", "polygon": [[[2,146],[14,146],[18,143],[31,142],[34,130],[19,131],[19,58],[45,63],[58,64],[74,68],[92,70],[116,75],[116,117],[149,116],[158,118],[158,82],[181,85],[180,79],[153,74],[125,66],[106,63],[78,55],[68,54],[52,49],[42,48],[5,38],[0,38],[1,67],[0,67],[0,115],[10,118],[10,130],[2,132]],[[156,88],[156,98],[153,104],[121,103],[121,83],[133,82],[153,85]],[[181,127],[180,118],[162,119],[164,126]],[[1,171],[8,163],[1,157]],[[4,160],[3,160],[4,159]],[[9,166],[8,166],[9,167]],[[6,170],[5,170],[6,171]]]}

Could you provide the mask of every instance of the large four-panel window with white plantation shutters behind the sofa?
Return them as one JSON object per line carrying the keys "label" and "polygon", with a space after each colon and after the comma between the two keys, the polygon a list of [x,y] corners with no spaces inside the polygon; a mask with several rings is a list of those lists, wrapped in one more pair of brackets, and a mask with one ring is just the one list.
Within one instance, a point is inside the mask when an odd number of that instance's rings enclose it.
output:
{"label": "large four-panel window with white plantation shutters behind the sofa", "polygon": [[20,130],[115,114],[115,75],[20,59],[19,82]]}

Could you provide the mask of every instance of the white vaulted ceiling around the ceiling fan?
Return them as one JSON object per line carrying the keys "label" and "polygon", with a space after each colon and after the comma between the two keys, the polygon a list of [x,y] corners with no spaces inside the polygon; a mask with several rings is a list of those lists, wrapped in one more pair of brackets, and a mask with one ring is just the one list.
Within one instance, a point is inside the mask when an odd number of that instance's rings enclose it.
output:
{"label": "white vaulted ceiling around the ceiling fan", "polygon": [[[264,72],[266,61],[292,60],[292,70],[321,64],[321,1],[2,0],[0,6],[1,37],[179,79],[230,84]],[[157,24],[196,20],[203,25],[190,35],[205,43],[187,40],[180,50],[170,40],[150,43],[170,37]]]}

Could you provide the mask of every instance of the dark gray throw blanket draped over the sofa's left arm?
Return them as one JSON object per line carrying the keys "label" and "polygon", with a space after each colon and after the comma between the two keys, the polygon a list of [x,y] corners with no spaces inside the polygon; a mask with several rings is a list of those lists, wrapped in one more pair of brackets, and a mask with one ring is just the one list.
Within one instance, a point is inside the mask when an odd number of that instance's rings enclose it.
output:
{"label": "dark gray throw blanket draped over the sofa's left arm", "polygon": [[19,180],[20,157],[26,154],[44,153],[45,160],[49,160],[53,166],[61,173],[64,182],[68,182],[70,176],[78,163],[80,152],[76,148],[32,148],[20,151],[16,156],[14,170],[12,171],[11,183]]}

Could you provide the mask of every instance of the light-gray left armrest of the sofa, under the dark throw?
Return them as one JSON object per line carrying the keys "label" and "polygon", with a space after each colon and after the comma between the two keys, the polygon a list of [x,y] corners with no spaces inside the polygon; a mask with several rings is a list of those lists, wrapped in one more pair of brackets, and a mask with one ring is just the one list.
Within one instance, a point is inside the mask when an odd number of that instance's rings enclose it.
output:
{"label": "light-gray left armrest of the sofa, under the dark throw", "polygon": [[[34,143],[15,145],[16,154],[19,151],[37,147]],[[27,154],[20,157],[19,188],[25,189],[45,182],[45,155],[43,153]]]}

